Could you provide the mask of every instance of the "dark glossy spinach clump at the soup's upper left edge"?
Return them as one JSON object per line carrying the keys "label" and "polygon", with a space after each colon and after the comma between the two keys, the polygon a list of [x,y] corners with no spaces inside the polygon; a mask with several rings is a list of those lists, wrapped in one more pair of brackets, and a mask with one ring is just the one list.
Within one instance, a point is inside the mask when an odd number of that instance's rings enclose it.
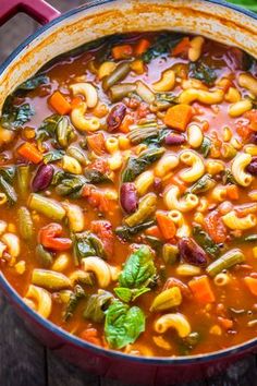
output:
{"label": "dark glossy spinach clump at the soup's upper left edge", "polygon": [[34,113],[29,104],[13,105],[13,96],[10,96],[3,105],[0,123],[4,129],[16,130],[29,121]]}

